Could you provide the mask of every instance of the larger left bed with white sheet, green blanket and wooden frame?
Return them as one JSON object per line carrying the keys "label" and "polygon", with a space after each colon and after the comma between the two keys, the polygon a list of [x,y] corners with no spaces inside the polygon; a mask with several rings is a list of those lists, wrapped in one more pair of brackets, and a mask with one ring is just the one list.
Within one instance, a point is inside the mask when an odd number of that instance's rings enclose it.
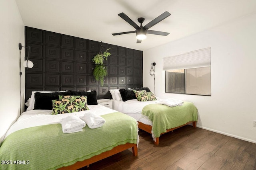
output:
{"label": "larger left bed with white sheet, green blanket and wooden frame", "polygon": [[[96,99],[96,96],[95,96]],[[88,101],[88,103],[90,103]],[[138,154],[137,121],[101,105],[90,110],[52,115],[52,110],[25,111],[7,131],[0,147],[0,169],[78,169],[132,148]],[[106,120],[100,128],[63,133],[60,119],[95,113]]]}

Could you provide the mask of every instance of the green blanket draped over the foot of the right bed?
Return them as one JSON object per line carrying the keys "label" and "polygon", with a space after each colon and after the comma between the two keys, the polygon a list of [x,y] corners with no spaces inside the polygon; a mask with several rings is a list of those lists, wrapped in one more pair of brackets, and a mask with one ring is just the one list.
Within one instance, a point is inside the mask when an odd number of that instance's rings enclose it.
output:
{"label": "green blanket draped over the foot of the right bed", "polygon": [[145,115],[153,122],[152,137],[160,137],[166,129],[171,129],[188,123],[197,121],[197,109],[194,104],[184,102],[182,106],[169,107],[162,104],[150,104],[142,109]]}

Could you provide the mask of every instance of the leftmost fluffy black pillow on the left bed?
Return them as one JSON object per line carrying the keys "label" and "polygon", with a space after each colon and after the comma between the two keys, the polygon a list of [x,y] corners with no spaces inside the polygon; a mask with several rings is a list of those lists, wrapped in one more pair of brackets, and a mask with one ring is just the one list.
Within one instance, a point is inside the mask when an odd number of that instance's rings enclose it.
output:
{"label": "leftmost fluffy black pillow on the left bed", "polygon": [[53,92],[53,93],[35,93],[35,106],[36,109],[52,110],[52,100],[58,100],[59,96],[68,96],[70,92]]}

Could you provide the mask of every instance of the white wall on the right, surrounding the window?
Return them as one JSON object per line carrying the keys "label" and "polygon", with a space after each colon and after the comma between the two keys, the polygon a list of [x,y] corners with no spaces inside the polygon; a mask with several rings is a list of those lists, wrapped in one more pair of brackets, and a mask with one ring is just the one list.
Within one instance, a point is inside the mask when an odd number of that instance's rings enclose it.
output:
{"label": "white wall on the right, surrounding the window", "polygon": [[[206,47],[212,48],[212,96],[165,93],[162,58]],[[256,14],[144,51],[143,86],[152,91],[153,62],[156,96],[193,102],[198,127],[256,143]]]}

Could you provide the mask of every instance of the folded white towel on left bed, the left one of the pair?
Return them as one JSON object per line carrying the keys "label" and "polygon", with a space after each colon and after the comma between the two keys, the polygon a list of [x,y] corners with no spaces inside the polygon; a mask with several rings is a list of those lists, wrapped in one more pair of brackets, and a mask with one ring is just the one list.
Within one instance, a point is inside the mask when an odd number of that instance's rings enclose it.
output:
{"label": "folded white towel on left bed, the left one of the pair", "polygon": [[86,126],[85,122],[79,117],[68,116],[60,119],[63,133],[80,132]]}

